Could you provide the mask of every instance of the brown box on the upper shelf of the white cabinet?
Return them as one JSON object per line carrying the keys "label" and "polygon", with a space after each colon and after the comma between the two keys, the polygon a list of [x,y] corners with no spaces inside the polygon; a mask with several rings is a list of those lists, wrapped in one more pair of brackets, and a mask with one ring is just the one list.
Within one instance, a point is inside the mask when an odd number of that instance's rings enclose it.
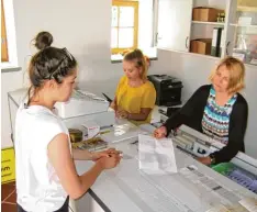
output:
{"label": "brown box on the upper shelf of the white cabinet", "polygon": [[193,8],[192,20],[216,22],[217,13],[220,12],[224,11],[214,8],[202,8],[202,7]]}

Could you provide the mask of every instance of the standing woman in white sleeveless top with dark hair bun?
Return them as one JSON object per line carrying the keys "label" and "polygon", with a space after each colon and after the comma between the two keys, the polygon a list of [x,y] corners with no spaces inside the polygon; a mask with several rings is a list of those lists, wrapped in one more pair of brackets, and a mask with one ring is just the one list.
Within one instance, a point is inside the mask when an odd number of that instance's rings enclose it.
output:
{"label": "standing woman in white sleeveless top with dark hair bun", "polygon": [[[19,212],[68,212],[69,197],[81,197],[103,169],[115,167],[119,153],[74,149],[68,129],[54,104],[68,101],[77,77],[77,62],[66,48],[51,47],[53,36],[36,36],[40,49],[30,63],[31,88],[15,121],[16,197]],[[78,176],[74,159],[96,164]]]}

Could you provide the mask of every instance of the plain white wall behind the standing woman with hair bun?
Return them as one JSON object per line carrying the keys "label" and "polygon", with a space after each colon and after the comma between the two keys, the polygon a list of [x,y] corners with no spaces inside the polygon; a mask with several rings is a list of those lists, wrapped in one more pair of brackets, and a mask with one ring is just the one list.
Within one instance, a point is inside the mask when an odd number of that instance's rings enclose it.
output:
{"label": "plain white wall behind the standing woman with hair bun", "polygon": [[[79,81],[101,81],[122,76],[121,64],[111,64],[111,0],[13,0],[18,41],[18,60],[23,72],[1,74],[1,147],[11,146],[7,92],[27,85],[23,80],[27,55],[35,49],[31,40],[40,31],[49,31],[54,44],[67,47],[79,63]],[[26,77],[25,77],[26,78]],[[104,83],[108,83],[104,82]]]}

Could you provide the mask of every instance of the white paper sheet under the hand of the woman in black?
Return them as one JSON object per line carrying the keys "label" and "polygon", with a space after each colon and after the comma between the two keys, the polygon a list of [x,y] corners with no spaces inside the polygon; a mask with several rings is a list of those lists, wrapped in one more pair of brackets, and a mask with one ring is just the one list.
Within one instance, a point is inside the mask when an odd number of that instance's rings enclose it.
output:
{"label": "white paper sheet under the hand of the woman in black", "polygon": [[177,172],[171,138],[156,140],[150,135],[138,135],[139,169],[148,174]]}

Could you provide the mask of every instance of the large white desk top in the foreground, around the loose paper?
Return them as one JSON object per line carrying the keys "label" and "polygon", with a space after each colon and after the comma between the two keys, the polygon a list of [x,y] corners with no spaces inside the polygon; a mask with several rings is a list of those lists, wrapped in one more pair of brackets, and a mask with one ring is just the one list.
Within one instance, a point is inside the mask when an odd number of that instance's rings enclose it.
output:
{"label": "large white desk top in the foreground, around the loose paper", "polygon": [[[9,93],[14,103],[13,112],[23,97],[24,91]],[[155,114],[158,115],[157,109]],[[82,118],[77,122],[81,124]],[[70,201],[74,205],[71,212],[205,212],[221,202],[238,202],[245,197],[257,199],[255,193],[178,149],[175,150],[175,156],[179,172],[147,175],[138,169],[137,147],[131,144],[135,140],[137,136],[120,143],[110,143],[110,147],[123,150],[124,159],[119,167],[103,171],[82,198]],[[92,161],[80,160],[75,164],[79,175],[92,166]],[[197,176],[192,178],[194,180],[188,179],[185,172],[190,171],[202,175],[201,180],[205,181],[195,180]],[[215,189],[202,186],[206,180],[215,182]]]}

